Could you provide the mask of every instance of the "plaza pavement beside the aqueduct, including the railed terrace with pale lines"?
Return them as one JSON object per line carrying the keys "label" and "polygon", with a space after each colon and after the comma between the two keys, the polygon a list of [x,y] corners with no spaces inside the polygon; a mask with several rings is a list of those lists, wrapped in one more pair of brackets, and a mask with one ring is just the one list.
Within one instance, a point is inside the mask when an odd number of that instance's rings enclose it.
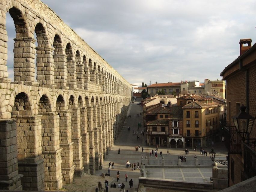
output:
{"label": "plaza pavement beside the aqueduct, including the railed terrace with pale lines", "polygon": [[[138,100],[138,99],[137,99]],[[117,140],[114,142],[114,146],[112,147],[111,151],[109,151],[108,155],[102,165],[102,170],[96,171],[95,175],[101,175],[102,173],[108,172],[108,164],[109,162],[114,161],[114,169],[110,170],[110,176],[114,178],[113,183],[118,184],[116,180],[117,171],[120,171],[120,179],[119,182],[125,184],[125,190],[136,191],[135,188],[138,186],[138,178],[141,176],[140,170],[131,170],[131,168],[126,168],[125,164],[126,161],[129,160],[130,163],[141,162],[141,155],[149,156],[149,152],[155,147],[148,147],[145,146],[146,134],[140,135],[140,139],[136,139],[136,134],[133,134],[134,131],[138,131],[138,123],[142,124],[143,126],[143,116],[139,115],[142,112],[142,106],[137,105],[136,103],[130,104],[128,114],[131,115],[130,118],[126,118],[123,128],[120,131]],[[127,127],[130,127],[131,130],[128,131]],[[141,131],[141,129],[139,130]],[[140,148],[144,148],[144,153],[142,151],[135,151],[135,146],[140,145]],[[118,149],[120,148],[120,154],[118,154]],[[205,148],[208,152],[211,151],[212,146]],[[165,159],[178,159],[179,155],[185,155],[185,149],[170,149],[170,155],[167,156],[167,148],[159,148],[158,154],[162,151],[163,156]],[[189,155],[186,155],[188,159],[194,159],[194,156],[197,155],[198,159],[209,159],[210,157],[200,155],[200,152],[195,152],[192,149],[189,149]],[[214,144],[214,151],[216,152],[216,156],[225,157],[227,155],[227,150],[224,147],[224,143],[215,143]],[[154,157],[151,157],[154,158]],[[128,175],[127,182],[125,182],[125,173]],[[157,177],[157,178],[165,178],[165,179],[176,179],[176,180],[186,180],[186,181],[209,181],[210,176],[212,176],[212,171],[210,167],[177,167],[177,168],[152,168],[148,172],[148,176],[150,177]],[[133,179],[133,190],[130,190],[129,181]],[[119,191],[118,188],[110,188],[108,191]]]}

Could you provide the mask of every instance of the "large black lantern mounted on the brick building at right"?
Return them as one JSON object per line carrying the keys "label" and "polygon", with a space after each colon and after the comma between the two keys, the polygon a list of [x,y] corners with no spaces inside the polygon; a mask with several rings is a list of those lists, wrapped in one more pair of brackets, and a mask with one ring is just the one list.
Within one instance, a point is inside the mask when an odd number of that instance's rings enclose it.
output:
{"label": "large black lantern mounted on the brick building at right", "polygon": [[244,105],[239,107],[239,109],[240,112],[233,116],[232,119],[234,121],[234,125],[236,126],[236,132],[239,133],[240,137],[245,143],[245,140],[249,140],[249,135],[251,134],[255,117],[245,112],[246,107]]}

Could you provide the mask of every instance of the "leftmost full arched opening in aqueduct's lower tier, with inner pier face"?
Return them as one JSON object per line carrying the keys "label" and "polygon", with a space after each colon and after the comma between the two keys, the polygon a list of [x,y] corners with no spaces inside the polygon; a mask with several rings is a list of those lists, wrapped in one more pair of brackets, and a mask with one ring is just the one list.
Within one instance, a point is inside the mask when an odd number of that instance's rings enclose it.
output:
{"label": "leftmost full arched opening in aqueduct's lower tier, with inner pier face", "polygon": [[29,98],[26,93],[21,92],[16,95],[12,109],[12,118],[16,119],[17,125],[19,174],[23,175],[21,179],[23,190],[42,190],[44,172],[40,171],[43,170],[41,119],[40,116],[31,115],[32,107]]}

